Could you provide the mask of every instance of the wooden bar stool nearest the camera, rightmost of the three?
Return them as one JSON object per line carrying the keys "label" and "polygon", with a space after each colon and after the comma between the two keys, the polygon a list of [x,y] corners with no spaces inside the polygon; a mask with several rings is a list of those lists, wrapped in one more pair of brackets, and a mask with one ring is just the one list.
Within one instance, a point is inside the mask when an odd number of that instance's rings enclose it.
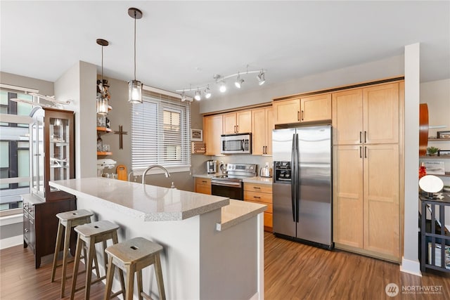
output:
{"label": "wooden bar stool nearest the camera, rightmost of the three", "polygon": [[160,252],[162,246],[155,242],[150,242],[143,237],[135,237],[134,239],[113,244],[105,249],[108,254],[108,274],[106,275],[105,298],[110,299],[111,287],[113,285],[114,268],[117,266],[120,270],[127,273],[125,286],[125,300],[133,299],[134,273],[137,272],[139,300],[145,297],[151,299],[142,289],[142,269],[154,264],[156,281],[158,282],[158,291],[160,299],[166,299],[164,292],[164,284],[162,282],[162,270],[160,261]]}

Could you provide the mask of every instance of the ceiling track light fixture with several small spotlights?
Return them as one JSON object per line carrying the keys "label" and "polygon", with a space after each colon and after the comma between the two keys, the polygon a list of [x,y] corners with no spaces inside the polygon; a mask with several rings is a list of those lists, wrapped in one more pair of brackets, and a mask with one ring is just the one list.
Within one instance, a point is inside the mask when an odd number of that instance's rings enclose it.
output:
{"label": "ceiling track light fixture with several small spotlights", "polygon": [[[253,70],[253,71],[249,71],[248,70],[248,65],[247,65],[247,70],[243,71],[243,72],[237,72],[236,74],[231,74],[231,75],[227,75],[227,76],[221,76],[219,74],[214,74],[214,76],[212,77],[215,81],[215,84],[217,84],[219,86],[219,91],[221,93],[226,92],[226,79],[229,79],[231,77],[236,77],[236,81],[234,81],[234,85],[236,86],[237,89],[240,89],[242,87],[242,84],[244,82],[244,79],[241,77],[241,75],[247,75],[247,74],[253,74],[253,73],[258,73],[257,75],[257,79],[258,79],[258,84],[261,86],[262,84],[264,84],[264,82],[266,81],[266,79],[264,78],[265,74],[266,74],[266,70],[262,69],[262,70]],[[192,87],[190,87],[189,89],[180,89],[180,90],[176,90],[179,92],[183,92],[181,94],[181,99],[183,99],[186,91],[187,92],[194,92],[195,93],[195,100],[200,100],[201,99],[201,92],[200,90],[203,90],[203,93],[205,94],[205,98],[209,99],[212,96],[211,90],[210,90],[210,84],[207,84],[205,86],[198,86],[197,88],[193,89]]]}

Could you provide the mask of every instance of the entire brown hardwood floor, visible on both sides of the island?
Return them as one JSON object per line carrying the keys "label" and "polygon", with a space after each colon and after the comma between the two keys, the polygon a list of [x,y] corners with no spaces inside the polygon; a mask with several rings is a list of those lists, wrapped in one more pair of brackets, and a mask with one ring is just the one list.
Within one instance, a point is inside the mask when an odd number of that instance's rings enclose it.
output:
{"label": "entire brown hardwood floor, visible on both sides of the island", "polygon": [[[41,268],[34,269],[30,249],[3,249],[0,270],[1,300],[60,299],[60,268],[58,280],[50,283],[49,256],[43,259]],[[83,280],[84,275],[79,276],[77,286]],[[392,298],[385,293],[391,282],[400,289]],[[437,294],[401,294],[402,286],[410,291],[417,286],[439,290]],[[70,287],[71,280],[63,299],[70,299]],[[104,285],[96,283],[91,287],[91,299],[103,299],[103,292]],[[264,293],[265,299],[450,299],[450,274],[424,273],[420,278],[401,273],[395,263],[309,247],[264,233]],[[83,292],[77,292],[75,299],[84,299]]]}

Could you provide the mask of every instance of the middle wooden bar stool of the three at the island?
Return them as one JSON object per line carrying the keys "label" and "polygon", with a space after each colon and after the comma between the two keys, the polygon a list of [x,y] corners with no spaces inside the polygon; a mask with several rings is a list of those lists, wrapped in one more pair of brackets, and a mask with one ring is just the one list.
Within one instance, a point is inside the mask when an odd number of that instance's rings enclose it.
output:
{"label": "middle wooden bar stool of the three at the island", "polygon": [[[103,280],[106,276],[100,277],[97,273],[97,279],[92,281],[92,260],[96,259],[96,243],[103,243],[103,253],[106,249],[106,241],[113,240],[113,244],[117,244],[117,230],[119,226],[115,223],[111,223],[110,221],[97,221],[94,223],[86,223],[84,225],[80,225],[75,227],[75,231],[78,233],[77,237],[77,249],[75,251],[75,266],[73,268],[73,276],[72,276],[72,293],[70,294],[70,299],[74,299],[75,292],[84,288],[84,299],[89,299],[89,294],[91,292],[91,285]],[[77,285],[77,274],[79,261],[81,259],[82,249],[86,247],[87,249],[87,260],[86,261],[86,283],[84,287],[76,288]],[[105,272],[108,270],[106,254],[103,254],[103,259],[105,261]],[[122,289],[124,282],[122,280]],[[120,294],[120,293],[119,293]]]}

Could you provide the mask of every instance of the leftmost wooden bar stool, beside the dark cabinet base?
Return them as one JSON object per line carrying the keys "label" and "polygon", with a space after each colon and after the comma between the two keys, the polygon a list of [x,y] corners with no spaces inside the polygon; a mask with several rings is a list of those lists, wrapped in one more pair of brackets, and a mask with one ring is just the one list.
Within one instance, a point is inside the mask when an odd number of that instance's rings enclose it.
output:
{"label": "leftmost wooden bar stool, beside the dark cabinet base", "polygon": [[[65,281],[67,280],[67,266],[68,266],[68,253],[69,253],[69,243],[70,243],[70,231],[75,226],[79,226],[85,223],[91,223],[91,216],[94,214],[91,211],[86,211],[84,209],[65,211],[56,214],[59,219],[58,233],[56,234],[56,244],[55,244],[55,254],[53,254],[53,267],[51,270],[51,281],[55,281],[56,268],[63,266],[63,274],[61,275],[61,298],[64,297]],[[64,248],[63,248],[63,263],[58,264],[58,254],[60,250],[61,240],[64,233]],[[86,257],[86,255],[84,255]],[[98,275],[98,264],[96,263],[96,272]]]}

